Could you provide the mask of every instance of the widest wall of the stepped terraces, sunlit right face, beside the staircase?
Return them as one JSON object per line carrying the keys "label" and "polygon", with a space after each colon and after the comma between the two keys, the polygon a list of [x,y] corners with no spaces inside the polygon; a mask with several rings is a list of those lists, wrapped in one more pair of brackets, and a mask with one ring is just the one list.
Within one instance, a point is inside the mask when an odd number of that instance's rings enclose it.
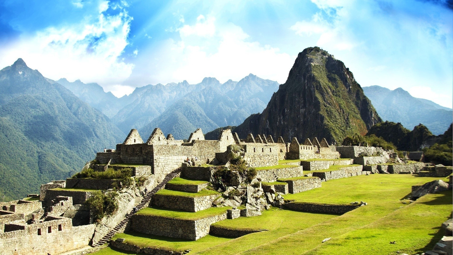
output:
{"label": "widest wall of the stepped terraces, sunlit right face, beside the staircase", "polygon": [[207,217],[195,221],[135,214],[131,217],[131,229],[150,235],[198,240],[209,233],[212,223],[225,219],[226,212],[218,216]]}

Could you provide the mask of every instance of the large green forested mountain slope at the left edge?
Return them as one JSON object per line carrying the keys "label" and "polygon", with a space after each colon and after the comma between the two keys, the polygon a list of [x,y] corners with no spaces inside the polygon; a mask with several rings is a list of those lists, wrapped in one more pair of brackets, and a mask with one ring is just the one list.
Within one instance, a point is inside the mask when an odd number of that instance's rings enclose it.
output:
{"label": "large green forested mountain slope at the left edge", "polygon": [[125,134],[109,119],[22,59],[0,70],[0,199],[79,171]]}

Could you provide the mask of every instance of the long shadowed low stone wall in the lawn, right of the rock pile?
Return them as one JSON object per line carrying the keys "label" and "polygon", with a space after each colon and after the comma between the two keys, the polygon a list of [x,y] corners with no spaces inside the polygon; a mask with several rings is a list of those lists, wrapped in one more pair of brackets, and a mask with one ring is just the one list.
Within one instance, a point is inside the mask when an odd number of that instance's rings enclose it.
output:
{"label": "long shadowed low stone wall in the lawn, right of the rock pile", "polygon": [[357,209],[358,205],[334,205],[334,204],[320,204],[320,203],[309,203],[309,202],[289,202],[284,206],[290,210],[295,211],[307,211],[307,212],[323,212],[323,213],[335,213],[344,214],[348,211]]}

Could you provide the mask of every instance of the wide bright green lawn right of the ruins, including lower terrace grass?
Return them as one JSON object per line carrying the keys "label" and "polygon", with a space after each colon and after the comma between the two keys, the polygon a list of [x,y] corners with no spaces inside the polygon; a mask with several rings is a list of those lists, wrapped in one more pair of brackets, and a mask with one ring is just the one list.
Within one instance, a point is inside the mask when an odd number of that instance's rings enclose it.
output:
{"label": "wide bright green lawn right of the ruins, including lower terrace grass", "polygon": [[[126,240],[134,238],[148,246],[193,249],[190,254],[392,254],[396,250],[408,254],[430,250],[441,235],[440,224],[451,217],[452,193],[446,191],[419,198],[406,205],[411,186],[439,177],[416,177],[409,174],[372,174],[323,182],[318,189],[287,194],[285,200],[345,204],[365,201],[361,206],[341,216],[306,213],[272,208],[261,216],[240,217],[215,223],[231,229],[267,229],[230,239],[207,235],[197,241],[174,240],[136,233],[118,234]],[[447,178],[442,178],[447,180]],[[225,208],[225,207],[223,207]],[[207,210],[219,210],[211,208]],[[203,210],[203,211],[207,211]],[[180,217],[180,212],[145,208],[150,214]],[[159,212],[156,212],[159,211]],[[129,237],[127,235],[130,235]],[[131,237],[134,236],[134,237]],[[150,237],[147,238],[147,237]],[[322,243],[322,240],[332,237]],[[390,245],[390,241],[396,241]],[[106,248],[110,249],[110,248]],[[106,250],[99,252],[110,252]],[[121,253],[99,253],[121,254]],[[115,251],[116,252],[116,251]],[[127,253],[124,253],[127,254]]]}

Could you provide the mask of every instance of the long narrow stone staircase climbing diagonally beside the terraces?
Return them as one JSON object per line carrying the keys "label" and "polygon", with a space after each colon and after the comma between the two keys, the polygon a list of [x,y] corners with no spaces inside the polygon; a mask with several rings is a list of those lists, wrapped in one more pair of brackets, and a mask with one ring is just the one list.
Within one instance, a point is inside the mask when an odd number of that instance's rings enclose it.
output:
{"label": "long narrow stone staircase climbing diagonally beside the terraces", "polygon": [[[167,176],[165,176],[164,180],[161,181],[159,183],[159,185],[157,185],[154,189],[152,189],[151,191],[148,191],[148,193],[146,193],[146,196],[143,197],[142,201],[140,202],[140,204],[138,204],[136,207],[137,207],[137,211],[139,211],[140,209],[143,209],[145,207],[147,207],[149,205],[149,202],[151,201],[153,195],[163,189],[165,187],[165,185],[167,184],[167,182],[169,182],[171,179],[175,178],[175,177],[179,177],[179,175],[181,174],[181,169],[178,168],[176,170],[174,170],[173,172],[169,173]],[[101,240],[99,240],[97,243],[95,244],[92,244],[91,246],[92,247],[97,247],[97,246],[101,246],[101,245],[104,245],[108,240],[110,240],[113,235],[115,235],[119,230],[121,229],[125,229],[127,223],[129,222],[130,220],[130,217],[132,215],[134,215],[135,212],[134,211],[130,211],[130,213],[128,213],[126,215],[126,217],[118,224],[116,225],[116,227],[112,230],[110,230],[107,235],[105,235],[104,237],[101,238]]]}

